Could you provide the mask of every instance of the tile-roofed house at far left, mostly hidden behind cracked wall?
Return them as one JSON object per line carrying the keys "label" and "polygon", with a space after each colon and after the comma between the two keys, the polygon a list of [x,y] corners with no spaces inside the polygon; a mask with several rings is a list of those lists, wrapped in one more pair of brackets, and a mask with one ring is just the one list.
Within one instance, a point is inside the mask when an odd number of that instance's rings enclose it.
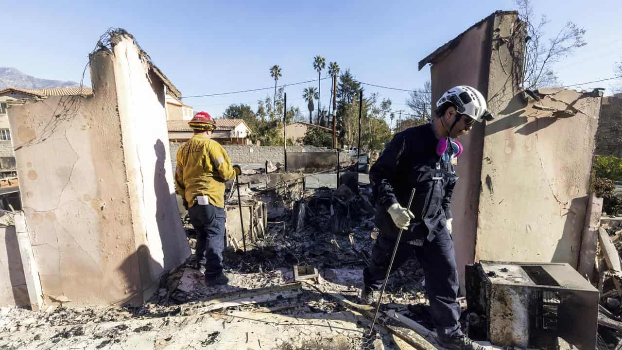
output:
{"label": "tile-roofed house at far left, mostly hidden behind cracked wall", "polygon": [[88,87],[76,88],[16,88],[0,90],[0,177],[16,176],[15,154],[9,131],[9,109],[11,105],[21,105],[25,99],[45,100],[50,96],[91,96]]}

